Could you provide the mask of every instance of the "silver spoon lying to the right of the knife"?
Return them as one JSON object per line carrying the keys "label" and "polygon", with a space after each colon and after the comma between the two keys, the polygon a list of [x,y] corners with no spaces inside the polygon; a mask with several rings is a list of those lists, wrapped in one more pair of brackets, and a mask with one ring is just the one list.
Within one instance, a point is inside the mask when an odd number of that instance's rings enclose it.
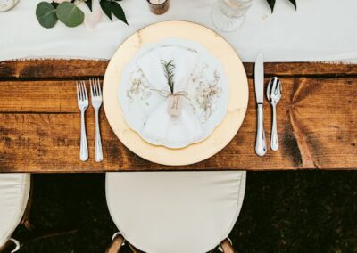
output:
{"label": "silver spoon lying to the right of the knife", "polygon": [[278,151],[278,129],[277,129],[277,104],[281,98],[282,86],[279,78],[270,79],[267,88],[267,98],[273,108],[273,119],[271,125],[270,148],[272,151]]}

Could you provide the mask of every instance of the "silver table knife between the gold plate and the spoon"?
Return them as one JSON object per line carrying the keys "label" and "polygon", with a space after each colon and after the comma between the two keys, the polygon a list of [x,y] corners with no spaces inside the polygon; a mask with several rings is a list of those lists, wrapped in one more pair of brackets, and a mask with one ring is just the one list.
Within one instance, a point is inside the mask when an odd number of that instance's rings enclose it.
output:
{"label": "silver table knife between the gold plate and the spoon", "polygon": [[255,61],[255,98],[257,103],[257,133],[255,141],[255,152],[258,156],[263,156],[267,152],[267,143],[264,132],[264,58],[259,53]]}

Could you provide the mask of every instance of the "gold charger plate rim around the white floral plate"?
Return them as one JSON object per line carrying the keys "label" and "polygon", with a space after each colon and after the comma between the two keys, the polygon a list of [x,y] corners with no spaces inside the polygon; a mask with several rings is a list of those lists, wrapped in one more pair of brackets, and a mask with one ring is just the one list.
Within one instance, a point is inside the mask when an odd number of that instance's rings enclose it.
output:
{"label": "gold charger plate rim around the white floral plate", "polygon": [[[227,115],[212,135],[201,143],[183,149],[169,149],[146,143],[124,120],[117,94],[125,66],[144,45],[167,38],[192,40],[203,45],[223,66],[228,79]],[[237,134],[245,118],[248,104],[248,80],[236,51],[211,29],[187,21],[155,23],[130,36],[112,56],[104,76],[104,110],[115,135],[130,151],[149,161],[169,166],[193,164],[212,157]]]}

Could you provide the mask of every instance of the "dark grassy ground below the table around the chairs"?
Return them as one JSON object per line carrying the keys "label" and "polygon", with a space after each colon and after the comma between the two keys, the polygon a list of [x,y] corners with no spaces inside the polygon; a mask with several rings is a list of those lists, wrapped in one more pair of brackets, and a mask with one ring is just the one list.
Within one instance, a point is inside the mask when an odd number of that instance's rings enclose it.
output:
{"label": "dark grassy ground below the table around the chairs", "polygon": [[[116,232],[104,175],[32,179],[33,224],[75,231],[28,241],[21,252],[104,252]],[[21,233],[19,228],[15,235]],[[243,209],[230,237],[238,252],[357,252],[357,172],[248,173]]]}

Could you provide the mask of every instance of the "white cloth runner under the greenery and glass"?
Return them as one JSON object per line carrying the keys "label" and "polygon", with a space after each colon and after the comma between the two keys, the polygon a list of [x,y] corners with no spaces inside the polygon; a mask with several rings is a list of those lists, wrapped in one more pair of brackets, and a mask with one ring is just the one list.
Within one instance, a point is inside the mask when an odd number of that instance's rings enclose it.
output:
{"label": "white cloth runner under the greenery and glass", "polygon": [[[161,20],[191,20],[214,29],[215,0],[170,0],[162,16],[151,13],[145,0],[120,2],[130,26],[106,16],[95,29],[66,28],[57,23],[44,29],[35,10],[40,0],[20,0],[9,12],[0,12],[0,61],[18,58],[110,59],[130,34]],[[232,33],[220,32],[243,61],[258,52],[266,61],[339,61],[357,58],[356,0],[297,0],[298,11],[287,0],[277,1],[273,14],[265,0],[256,0],[244,25]],[[87,6],[80,5],[87,12]]]}

